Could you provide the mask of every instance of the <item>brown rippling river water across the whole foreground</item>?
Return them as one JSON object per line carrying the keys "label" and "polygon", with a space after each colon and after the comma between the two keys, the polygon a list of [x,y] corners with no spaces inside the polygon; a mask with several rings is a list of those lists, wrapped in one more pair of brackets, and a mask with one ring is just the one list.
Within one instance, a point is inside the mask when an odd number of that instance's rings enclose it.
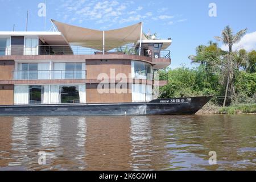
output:
{"label": "brown rippling river water across the whole foreground", "polygon": [[0,170],[49,169],[256,170],[256,115],[0,117]]}

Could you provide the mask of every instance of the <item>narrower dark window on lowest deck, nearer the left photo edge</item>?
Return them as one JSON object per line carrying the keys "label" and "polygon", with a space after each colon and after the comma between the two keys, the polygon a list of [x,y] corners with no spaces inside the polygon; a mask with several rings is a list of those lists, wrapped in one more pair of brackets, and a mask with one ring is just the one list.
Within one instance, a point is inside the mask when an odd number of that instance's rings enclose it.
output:
{"label": "narrower dark window on lowest deck, nearer the left photo edge", "polygon": [[29,104],[41,104],[43,86],[28,86]]}

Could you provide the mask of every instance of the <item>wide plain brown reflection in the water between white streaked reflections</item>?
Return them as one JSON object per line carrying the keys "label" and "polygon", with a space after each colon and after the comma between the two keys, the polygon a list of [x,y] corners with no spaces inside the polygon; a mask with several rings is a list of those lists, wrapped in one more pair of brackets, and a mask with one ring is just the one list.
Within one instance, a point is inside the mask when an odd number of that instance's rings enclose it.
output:
{"label": "wide plain brown reflection in the water between white streaked reflections", "polygon": [[88,170],[130,170],[130,117],[86,117]]}

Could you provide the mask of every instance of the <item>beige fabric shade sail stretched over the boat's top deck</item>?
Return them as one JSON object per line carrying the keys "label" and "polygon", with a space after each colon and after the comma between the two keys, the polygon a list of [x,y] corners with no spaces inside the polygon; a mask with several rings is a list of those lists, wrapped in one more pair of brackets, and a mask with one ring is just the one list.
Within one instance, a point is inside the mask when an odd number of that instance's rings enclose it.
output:
{"label": "beige fabric shade sail stretched over the boat's top deck", "polygon": [[[76,46],[89,47],[102,51],[103,35],[105,34],[105,51],[141,39],[142,22],[115,30],[100,31],[89,28],[72,26],[52,20],[57,29],[63,34],[68,43]],[[142,39],[147,39],[142,34]]]}

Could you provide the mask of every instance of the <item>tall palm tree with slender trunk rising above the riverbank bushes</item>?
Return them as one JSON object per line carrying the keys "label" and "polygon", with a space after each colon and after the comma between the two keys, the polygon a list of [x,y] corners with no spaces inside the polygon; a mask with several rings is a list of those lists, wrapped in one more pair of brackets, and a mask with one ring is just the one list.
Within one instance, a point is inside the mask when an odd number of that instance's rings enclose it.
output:
{"label": "tall palm tree with slender trunk rising above the riverbank bushes", "polygon": [[[240,42],[240,40],[242,39],[242,37],[246,34],[247,28],[237,32],[236,35],[233,34],[232,28],[230,28],[229,26],[226,26],[224,28],[224,30],[222,31],[221,36],[216,36],[214,37],[216,40],[221,41],[223,44],[227,45],[229,47],[229,55],[228,55],[228,59],[227,61],[229,62],[228,67],[226,67],[226,69],[228,70],[226,73],[226,77],[227,77],[227,82],[226,82],[226,91],[225,91],[225,98],[224,98],[224,103],[223,106],[225,107],[226,105],[226,97],[228,94],[228,88],[230,87],[232,90],[234,90],[234,86],[233,86],[233,78],[234,78],[234,74],[233,74],[233,59],[232,59],[232,47],[234,44]],[[230,84],[231,83],[231,84]],[[229,86],[230,84],[230,86]]]}

